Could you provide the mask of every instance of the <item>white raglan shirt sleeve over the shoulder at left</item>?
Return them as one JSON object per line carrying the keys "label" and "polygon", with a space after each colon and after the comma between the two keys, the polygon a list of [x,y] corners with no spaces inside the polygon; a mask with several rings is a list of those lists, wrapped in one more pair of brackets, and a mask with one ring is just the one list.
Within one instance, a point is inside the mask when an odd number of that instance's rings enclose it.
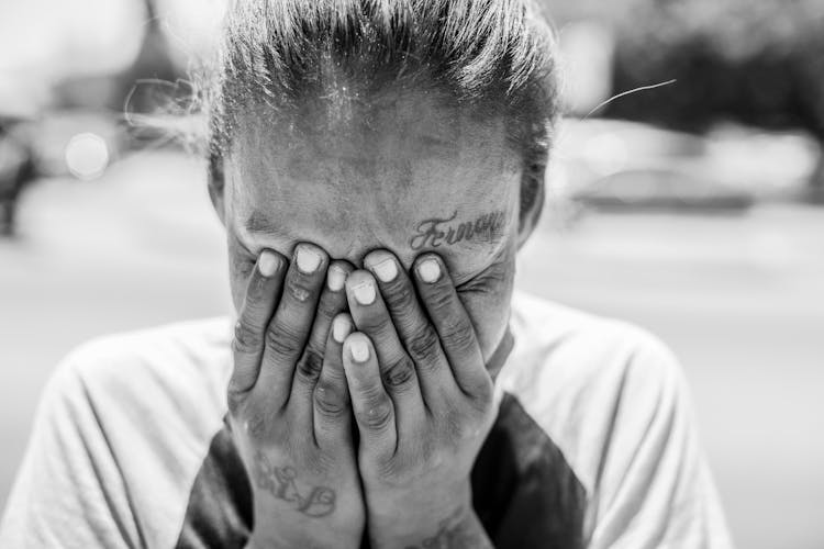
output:
{"label": "white raglan shirt sleeve over the shoulder at left", "polygon": [[180,323],[71,351],[42,395],[0,541],[172,545],[223,425],[230,328],[227,318]]}

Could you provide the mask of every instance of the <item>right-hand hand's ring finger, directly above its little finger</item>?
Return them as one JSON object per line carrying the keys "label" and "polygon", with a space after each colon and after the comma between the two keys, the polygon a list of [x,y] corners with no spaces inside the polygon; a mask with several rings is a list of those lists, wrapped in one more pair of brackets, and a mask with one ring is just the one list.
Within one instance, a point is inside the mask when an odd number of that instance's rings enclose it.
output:
{"label": "right-hand hand's ring finger, directly above its little finger", "polygon": [[371,273],[353,272],[346,281],[346,295],[355,326],[375,346],[380,378],[394,403],[398,430],[403,436],[424,413],[414,362],[401,345]]}

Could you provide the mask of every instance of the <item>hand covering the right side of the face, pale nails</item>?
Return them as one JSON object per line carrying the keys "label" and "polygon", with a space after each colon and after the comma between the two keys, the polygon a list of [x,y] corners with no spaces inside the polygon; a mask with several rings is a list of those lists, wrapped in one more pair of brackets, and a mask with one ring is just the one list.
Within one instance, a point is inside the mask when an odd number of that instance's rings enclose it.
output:
{"label": "hand covering the right side of the face, pale nails", "polygon": [[491,547],[469,483],[494,421],[471,321],[434,254],[415,261],[417,292],[391,254],[365,264],[375,276],[346,281],[359,332],[346,338],[343,362],[372,546]]}

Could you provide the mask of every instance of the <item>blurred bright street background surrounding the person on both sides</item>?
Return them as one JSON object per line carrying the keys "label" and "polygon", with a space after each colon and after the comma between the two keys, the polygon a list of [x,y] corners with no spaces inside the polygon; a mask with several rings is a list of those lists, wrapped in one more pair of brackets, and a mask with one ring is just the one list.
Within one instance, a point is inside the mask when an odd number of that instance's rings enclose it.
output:
{"label": "blurred bright street background surrounding the person on both sides", "polygon": [[[521,288],[662,337],[737,545],[821,549],[824,2],[543,3],[567,116]],[[229,311],[204,163],[130,123],[221,8],[0,3],[0,506],[71,347]]]}

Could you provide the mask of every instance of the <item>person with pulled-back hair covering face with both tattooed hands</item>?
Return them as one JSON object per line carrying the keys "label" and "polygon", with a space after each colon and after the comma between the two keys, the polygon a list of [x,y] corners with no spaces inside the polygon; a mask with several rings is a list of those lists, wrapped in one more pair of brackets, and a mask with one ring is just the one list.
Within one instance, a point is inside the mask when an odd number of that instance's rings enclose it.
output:
{"label": "person with pulled-back hair covering face with both tattooed hands", "polygon": [[242,0],[204,81],[232,320],[53,376],[2,547],[730,547],[654,336],[514,291],[558,114],[527,0]]}

